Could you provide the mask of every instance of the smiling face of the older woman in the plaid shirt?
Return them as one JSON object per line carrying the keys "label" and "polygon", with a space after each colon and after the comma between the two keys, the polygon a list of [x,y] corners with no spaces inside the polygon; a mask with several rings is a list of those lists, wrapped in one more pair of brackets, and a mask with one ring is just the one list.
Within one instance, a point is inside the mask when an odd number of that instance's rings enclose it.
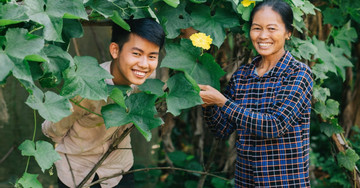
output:
{"label": "smiling face of the older woman in the plaid shirt", "polygon": [[284,52],[285,40],[291,35],[285,28],[280,14],[271,7],[263,7],[253,17],[250,38],[256,51],[263,58],[281,57]]}

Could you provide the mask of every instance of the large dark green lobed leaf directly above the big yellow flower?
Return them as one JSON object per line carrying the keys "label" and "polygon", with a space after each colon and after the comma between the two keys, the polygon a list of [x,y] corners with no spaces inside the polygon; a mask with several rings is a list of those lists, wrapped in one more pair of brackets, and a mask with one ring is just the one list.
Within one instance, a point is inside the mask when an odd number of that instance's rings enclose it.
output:
{"label": "large dark green lobed leaf directly above the big yellow flower", "polygon": [[197,5],[192,9],[194,29],[210,35],[213,43],[220,47],[225,40],[225,29],[239,26],[239,18],[232,9],[218,8],[211,14],[210,7]]}

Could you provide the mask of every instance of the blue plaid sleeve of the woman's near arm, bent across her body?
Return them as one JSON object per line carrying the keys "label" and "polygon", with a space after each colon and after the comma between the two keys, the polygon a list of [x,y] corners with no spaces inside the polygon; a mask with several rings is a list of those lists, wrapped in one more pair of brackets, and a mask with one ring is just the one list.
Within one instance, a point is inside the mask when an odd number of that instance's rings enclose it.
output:
{"label": "blue plaid sleeve of the woman's near arm, bent across her body", "polygon": [[223,114],[223,119],[252,134],[266,138],[279,137],[300,121],[303,110],[310,108],[312,85],[310,69],[299,68],[284,79],[275,104],[266,113],[244,108],[232,99],[226,101],[219,113]]}

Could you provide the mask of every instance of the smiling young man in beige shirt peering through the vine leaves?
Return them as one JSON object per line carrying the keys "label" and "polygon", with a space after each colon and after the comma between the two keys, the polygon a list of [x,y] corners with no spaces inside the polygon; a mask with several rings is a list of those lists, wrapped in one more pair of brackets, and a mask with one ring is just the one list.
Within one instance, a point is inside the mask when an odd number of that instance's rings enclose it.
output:
{"label": "smiling young man in beige shirt peering through the vine leaves", "polygon": [[[109,46],[112,61],[101,64],[101,67],[113,75],[105,82],[110,85],[140,85],[145,82],[158,65],[159,52],[164,44],[165,33],[162,27],[152,19],[134,19],[127,21],[131,32],[114,25]],[[81,100],[80,105],[101,113],[105,101]],[[76,187],[102,155],[113,140],[120,136],[129,126],[105,128],[104,120],[93,113],[73,104],[74,112],[57,123],[45,121],[43,133],[57,143],[56,151],[61,160],[55,162],[59,177],[59,187]],[[131,148],[130,136],[118,146]],[[118,149],[97,169],[87,182],[108,177],[121,171],[128,171],[133,165],[131,149]],[[122,180],[123,179],[123,180]],[[103,181],[97,187],[121,187],[126,183],[126,175]],[[131,178],[130,178],[131,179]],[[131,181],[131,180],[130,180]]]}

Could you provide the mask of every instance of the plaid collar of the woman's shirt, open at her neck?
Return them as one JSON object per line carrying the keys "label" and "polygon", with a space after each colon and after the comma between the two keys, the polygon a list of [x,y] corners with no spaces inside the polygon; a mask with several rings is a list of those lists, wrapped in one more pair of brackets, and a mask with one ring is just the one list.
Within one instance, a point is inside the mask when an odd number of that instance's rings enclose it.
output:
{"label": "plaid collar of the woman's shirt, open at her neck", "polygon": [[[267,73],[265,73],[262,77],[278,77],[280,76],[284,70],[288,67],[291,59],[293,56],[289,51],[285,51],[285,54],[280,58],[280,60],[276,63],[276,65]],[[256,64],[259,63],[261,60],[261,56],[256,56],[250,64],[249,70],[247,72],[247,75],[250,77],[259,77],[256,72]]]}

